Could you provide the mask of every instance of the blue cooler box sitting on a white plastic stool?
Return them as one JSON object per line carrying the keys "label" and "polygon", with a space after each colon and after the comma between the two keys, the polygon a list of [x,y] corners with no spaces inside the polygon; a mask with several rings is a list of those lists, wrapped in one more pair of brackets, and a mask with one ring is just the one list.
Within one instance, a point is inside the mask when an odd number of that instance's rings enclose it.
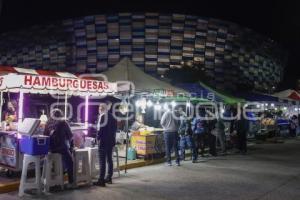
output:
{"label": "blue cooler box sitting on a white plastic stool", "polygon": [[46,155],[49,152],[49,136],[44,135],[22,135],[20,139],[21,153],[28,155]]}

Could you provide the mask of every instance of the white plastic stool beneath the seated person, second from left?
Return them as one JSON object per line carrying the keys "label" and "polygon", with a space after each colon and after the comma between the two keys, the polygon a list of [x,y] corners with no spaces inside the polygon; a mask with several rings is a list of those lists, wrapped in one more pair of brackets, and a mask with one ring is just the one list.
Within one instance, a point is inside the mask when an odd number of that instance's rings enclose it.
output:
{"label": "white plastic stool beneath the seated person, second from left", "polygon": [[61,154],[49,153],[44,162],[42,182],[45,191],[49,192],[50,187],[59,185],[64,189],[64,169]]}

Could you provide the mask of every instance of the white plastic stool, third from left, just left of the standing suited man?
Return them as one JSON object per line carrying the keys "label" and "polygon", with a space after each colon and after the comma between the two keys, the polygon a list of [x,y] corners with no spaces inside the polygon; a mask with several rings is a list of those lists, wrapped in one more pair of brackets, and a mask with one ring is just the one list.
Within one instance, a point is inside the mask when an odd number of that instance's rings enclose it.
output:
{"label": "white plastic stool, third from left, just left of the standing suited man", "polygon": [[75,165],[74,165],[74,183],[76,186],[79,182],[92,183],[91,168],[89,164],[88,149],[75,150]]}

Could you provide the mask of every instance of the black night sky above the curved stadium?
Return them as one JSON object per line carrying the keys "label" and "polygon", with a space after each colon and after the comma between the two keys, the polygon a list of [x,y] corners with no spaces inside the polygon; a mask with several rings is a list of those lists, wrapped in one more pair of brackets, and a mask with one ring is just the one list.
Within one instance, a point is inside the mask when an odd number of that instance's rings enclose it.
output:
{"label": "black night sky above the curved stadium", "polygon": [[2,1],[1,32],[60,19],[126,11],[184,13],[232,21],[272,38],[286,49],[289,59],[279,89],[295,88],[296,80],[300,78],[300,5],[297,0]]}

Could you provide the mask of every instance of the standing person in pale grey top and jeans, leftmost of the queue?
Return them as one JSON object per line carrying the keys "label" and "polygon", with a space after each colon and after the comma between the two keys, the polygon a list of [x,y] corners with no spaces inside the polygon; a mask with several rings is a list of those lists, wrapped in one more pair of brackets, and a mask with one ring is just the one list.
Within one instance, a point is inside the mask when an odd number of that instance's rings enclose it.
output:
{"label": "standing person in pale grey top and jeans, leftmost of the queue", "polygon": [[168,166],[172,166],[171,152],[174,150],[176,156],[176,165],[180,166],[180,159],[178,155],[178,127],[179,122],[176,119],[176,113],[169,108],[162,116],[160,124],[164,129],[164,140],[166,148],[166,157]]}

